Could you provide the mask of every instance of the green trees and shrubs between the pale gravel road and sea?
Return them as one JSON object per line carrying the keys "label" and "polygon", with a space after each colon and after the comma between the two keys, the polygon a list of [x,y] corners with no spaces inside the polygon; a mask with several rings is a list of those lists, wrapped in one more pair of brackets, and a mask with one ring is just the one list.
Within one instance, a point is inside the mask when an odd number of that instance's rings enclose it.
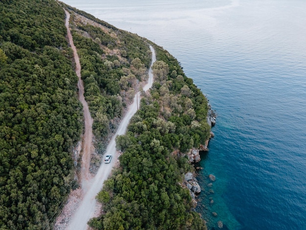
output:
{"label": "green trees and shrubs between the pale gravel road and sea", "polygon": [[191,165],[175,150],[184,153],[209,138],[207,100],[175,58],[155,48],[155,82],[128,133],[116,138],[124,153],[97,196],[103,214],[89,221],[95,229],[206,229],[181,186]]}

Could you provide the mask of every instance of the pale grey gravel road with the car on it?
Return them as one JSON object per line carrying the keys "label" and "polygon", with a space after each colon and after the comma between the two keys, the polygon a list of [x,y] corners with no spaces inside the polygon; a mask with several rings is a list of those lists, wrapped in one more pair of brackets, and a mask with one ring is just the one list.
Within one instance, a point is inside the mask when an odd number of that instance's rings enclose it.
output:
{"label": "pale grey gravel road with the car on it", "polygon": [[[152,63],[149,69],[148,83],[143,87],[144,91],[148,91],[153,84],[152,65],[156,61],[156,55],[152,46],[150,46],[150,49],[152,51]],[[80,202],[79,207],[73,213],[73,216],[68,223],[67,230],[86,230],[88,228],[87,222],[91,217],[94,216],[94,212],[96,210],[95,197],[97,193],[102,189],[104,181],[108,179],[113,165],[118,160],[115,138],[117,135],[123,135],[126,133],[129,121],[131,117],[136,113],[137,108],[140,105],[140,96],[138,96],[138,94],[139,92],[135,94],[133,103],[129,106],[127,113],[120,122],[117,132],[111,138],[107,147],[106,154],[112,155],[111,162],[108,164],[102,163],[95,177],[88,182],[87,191],[84,194],[83,200]]]}

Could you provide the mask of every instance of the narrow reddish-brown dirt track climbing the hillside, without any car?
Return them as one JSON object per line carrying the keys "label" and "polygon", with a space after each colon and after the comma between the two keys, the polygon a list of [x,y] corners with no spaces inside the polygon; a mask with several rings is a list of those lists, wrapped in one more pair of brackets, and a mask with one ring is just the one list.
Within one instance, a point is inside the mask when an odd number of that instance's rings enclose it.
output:
{"label": "narrow reddish-brown dirt track climbing the hillside, without any car", "polygon": [[[65,9],[64,9],[65,10]],[[75,73],[79,78],[78,81],[78,89],[79,89],[79,100],[83,105],[83,114],[84,114],[84,123],[85,123],[85,130],[84,130],[84,136],[83,136],[83,154],[82,154],[82,168],[81,168],[81,182],[82,182],[82,190],[83,192],[88,189],[87,182],[91,179],[91,175],[89,172],[89,165],[90,165],[90,155],[91,151],[93,150],[92,145],[92,118],[90,116],[89,108],[87,101],[84,97],[84,85],[83,81],[81,79],[81,65],[80,65],[80,59],[76,50],[76,47],[73,44],[72,35],[69,29],[69,18],[70,14],[68,11],[65,10],[66,13],[66,28],[67,28],[67,35],[69,39],[69,43],[71,45],[71,48],[73,50],[73,56],[75,60]]]}

